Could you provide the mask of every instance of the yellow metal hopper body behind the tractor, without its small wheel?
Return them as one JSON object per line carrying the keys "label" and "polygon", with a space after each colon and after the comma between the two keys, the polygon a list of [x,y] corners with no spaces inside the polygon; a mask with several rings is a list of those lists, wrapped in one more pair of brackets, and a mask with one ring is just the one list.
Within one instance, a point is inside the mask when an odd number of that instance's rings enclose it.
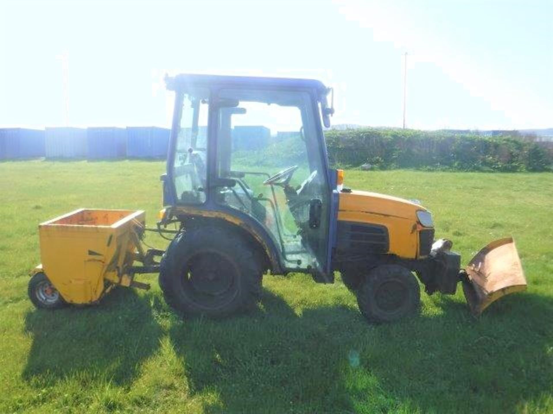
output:
{"label": "yellow metal hopper body behind the tractor, without its small wheel", "polygon": [[129,286],[121,272],[135,256],[133,228],[144,226],[142,210],[79,209],[39,225],[41,265],[65,301],[94,302],[106,293],[104,281]]}

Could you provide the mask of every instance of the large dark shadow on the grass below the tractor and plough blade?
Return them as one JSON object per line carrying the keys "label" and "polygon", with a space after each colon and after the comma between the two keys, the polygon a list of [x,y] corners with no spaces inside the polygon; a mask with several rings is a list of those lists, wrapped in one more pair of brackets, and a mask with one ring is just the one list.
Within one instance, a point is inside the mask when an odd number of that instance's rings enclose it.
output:
{"label": "large dark shadow on the grass below the tractor and plough blade", "polygon": [[432,301],[437,315],[374,326],[348,306],[296,314],[265,289],[250,314],[175,320],[169,335],[191,395],[209,401],[206,412],[513,412],[547,404],[550,298],[513,295],[479,320],[455,299]]}

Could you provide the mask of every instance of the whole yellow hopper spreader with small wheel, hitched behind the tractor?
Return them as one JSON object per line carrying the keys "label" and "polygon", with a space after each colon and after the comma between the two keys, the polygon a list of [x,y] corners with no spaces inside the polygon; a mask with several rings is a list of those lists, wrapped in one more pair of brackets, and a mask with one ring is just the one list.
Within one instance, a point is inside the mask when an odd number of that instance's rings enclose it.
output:
{"label": "whole yellow hopper spreader with small wheel, hitched behind the tractor", "polygon": [[97,302],[118,285],[148,289],[134,275],[158,272],[154,257],[163,251],[144,252],[144,228],[142,210],[79,209],[41,223],[42,263],[33,270],[30,299],[53,309]]}

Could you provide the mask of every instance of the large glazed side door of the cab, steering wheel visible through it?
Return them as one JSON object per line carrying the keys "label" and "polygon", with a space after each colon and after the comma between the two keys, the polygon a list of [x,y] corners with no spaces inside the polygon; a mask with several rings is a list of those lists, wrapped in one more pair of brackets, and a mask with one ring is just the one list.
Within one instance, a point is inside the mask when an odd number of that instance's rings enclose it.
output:
{"label": "large glazed side door of the cab, steering wheel visible through it", "polygon": [[331,192],[311,93],[222,88],[216,96],[216,203],[263,226],[286,270],[325,274]]}

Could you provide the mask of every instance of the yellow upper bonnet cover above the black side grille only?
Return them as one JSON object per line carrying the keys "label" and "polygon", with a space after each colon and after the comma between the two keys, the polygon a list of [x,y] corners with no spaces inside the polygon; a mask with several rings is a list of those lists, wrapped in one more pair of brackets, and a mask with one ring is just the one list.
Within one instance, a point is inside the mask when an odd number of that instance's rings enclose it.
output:
{"label": "yellow upper bonnet cover above the black side grille only", "polygon": [[338,210],[359,211],[416,221],[416,211],[426,209],[419,204],[392,195],[352,190],[351,193],[340,193]]}

